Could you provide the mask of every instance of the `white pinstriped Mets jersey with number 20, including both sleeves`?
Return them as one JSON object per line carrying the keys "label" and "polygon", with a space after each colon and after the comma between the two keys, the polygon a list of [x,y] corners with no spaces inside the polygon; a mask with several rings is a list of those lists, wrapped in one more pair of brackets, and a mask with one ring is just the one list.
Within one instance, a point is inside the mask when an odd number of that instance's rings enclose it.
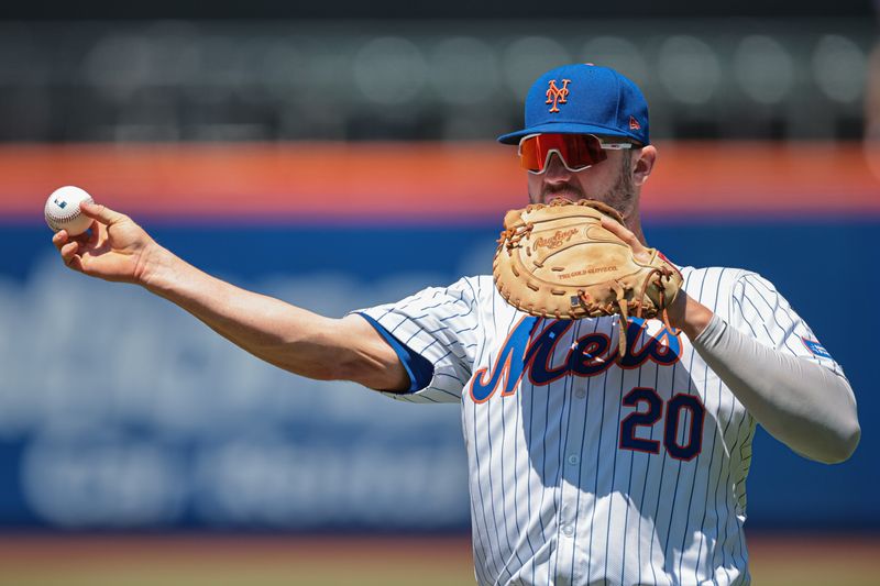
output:
{"label": "white pinstriped Mets jersey with number 20, including both sleeves", "polygon": [[[754,273],[685,267],[684,289],[761,343],[843,374]],[[755,420],[683,334],[526,316],[492,277],[364,311],[435,366],[397,399],[460,401],[480,584],[748,584]]]}

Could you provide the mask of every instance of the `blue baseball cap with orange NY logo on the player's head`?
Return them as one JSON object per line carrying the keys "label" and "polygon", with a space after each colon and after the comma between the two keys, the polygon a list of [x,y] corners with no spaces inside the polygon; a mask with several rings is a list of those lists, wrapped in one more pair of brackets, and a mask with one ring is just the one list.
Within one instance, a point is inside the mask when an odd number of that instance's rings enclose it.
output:
{"label": "blue baseball cap with orange NY logo on the player's head", "polygon": [[645,146],[648,102],[636,84],[609,67],[564,65],[535,81],[526,97],[526,128],[498,142],[519,144],[542,132],[622,136]]}

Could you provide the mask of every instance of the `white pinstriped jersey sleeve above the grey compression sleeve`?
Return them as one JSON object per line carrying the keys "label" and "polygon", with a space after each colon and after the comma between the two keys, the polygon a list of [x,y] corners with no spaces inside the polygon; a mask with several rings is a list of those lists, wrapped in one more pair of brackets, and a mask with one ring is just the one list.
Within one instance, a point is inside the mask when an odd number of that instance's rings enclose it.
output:
{"label": "white pinstriped jersey sleeve above the grey compression sleeve", "polygon": [[772,283],[756,273],[744,273],[734,283],[730,324],[762,344],[845,376],[789,301]]}

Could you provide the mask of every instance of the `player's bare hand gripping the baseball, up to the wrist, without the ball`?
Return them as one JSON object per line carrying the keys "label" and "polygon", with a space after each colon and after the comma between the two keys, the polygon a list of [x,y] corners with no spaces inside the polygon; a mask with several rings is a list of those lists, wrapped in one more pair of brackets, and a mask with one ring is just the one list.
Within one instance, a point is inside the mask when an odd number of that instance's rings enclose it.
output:
{"label": "player's bare hand gripping the baseball, up to the wrist, without the ball", "polygon": [[156,242],[131,218],[106,206],[84,201],[80,210],[91,219],[90,233],[70,236],[61,230],[52,239],[64,264],[105,280],[141,283]]}

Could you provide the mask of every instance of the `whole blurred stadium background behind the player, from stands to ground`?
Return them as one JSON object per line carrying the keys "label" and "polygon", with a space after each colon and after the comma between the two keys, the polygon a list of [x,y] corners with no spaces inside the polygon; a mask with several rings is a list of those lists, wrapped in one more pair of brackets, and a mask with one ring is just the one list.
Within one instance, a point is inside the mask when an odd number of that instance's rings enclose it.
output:
{"label": "whole blurred stadium background behind the player, from stands to ground", "polygon": [[878,583],[875,5],[278,4],[0,8],[0,584],[472,582],[454,407],[286,375],[74,275],[41,210],[80,185],[199,267],[341,316],[490,269],[525,199],[494,137],[572,62],[648,97],[651,244],[768,276],[856,389],[845,464],[759,430],[756,584]]}

